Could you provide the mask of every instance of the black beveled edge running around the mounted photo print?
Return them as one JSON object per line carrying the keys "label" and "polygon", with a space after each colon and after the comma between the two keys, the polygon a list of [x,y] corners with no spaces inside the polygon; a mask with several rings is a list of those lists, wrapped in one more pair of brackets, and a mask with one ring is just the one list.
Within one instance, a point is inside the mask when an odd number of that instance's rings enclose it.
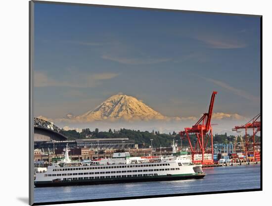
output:
{"label": "black beveled edge running around the mounted photo print", "polygon": [[[131,6],[117,6],[117,5],[103,5],[103,4],[88,4],[88,3],[72,3],[72,2],[56,2],[56,1],[29,1],[29,205],[56,205],[56,204],[70,204],[70,203],[88,203],[88,202],[102,202],[102,201],[116,201],[116,200],[134,200],[146,198],[163,198],[163,197],[179,197],[191,195],[209,195],[209,194],[222,194],[222,193],[236,193],[236,192],[254,192],[263,190],[263,151],[261,152],[261,178],[259,189],[246,189],[246,190],[227,190],[227,191],[214,191],[214,192],[198,192],[198,193],[183,193],[183,194],[170,194],[170,195],[151,195],[151,196],[136,196],[136,197],[123,197],[123,198],[103,198],[92,200],[75,200],[75,201],[57,201],[57,202],[43,202],[34,203],[34,163],[33,163],[33,150],[34,150],[34,113],[33,113],[33,63],[34,63],[34,3],[50,3],[50,4],[64,4],[64,5],[78,5],[78,6],[92,6],[92,7],[105,7],[105,8],[124,8],[124,9],[140,9],[140,10],[157,10],[157,11],[175,11],[175,12],[194,12],[206,14],[220,14],[220,15],[238,15],[238,16],[252,16],[260,17],[260,112],[261,112],[261,132],[263,131],[263,16],[251,14],[237,14],[237,13],[221,13],[209,11],[191,11],[191,10],[177,10],[177,9],[163,9],[163,8],[146,8],[146,7],[131,7]],[[263,140],[261,138],[261,148],[263,149]]]}

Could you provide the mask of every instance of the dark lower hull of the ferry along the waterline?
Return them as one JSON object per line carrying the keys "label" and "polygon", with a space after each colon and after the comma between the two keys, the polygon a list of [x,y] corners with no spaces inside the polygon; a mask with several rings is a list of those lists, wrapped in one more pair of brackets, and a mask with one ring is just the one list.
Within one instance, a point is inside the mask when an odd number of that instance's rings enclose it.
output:
{"label": "dark lower hull of the ferry along the waterline", "polygon": [[145,176],[145,177],[124,177],[124,178],[105,178],[105,179],[83,179],[83,180],[67,180],[60,182],[52,181],[35,181],[35,187],[58,187],[73,185],[98,185],[98,184],[116,184],[130,182],[153,182],[153,181],[171,181],[184,179],[200,179],[204,178],[205,173],[199,174],[182,174],[182,175],[162,175],[162,176]]}

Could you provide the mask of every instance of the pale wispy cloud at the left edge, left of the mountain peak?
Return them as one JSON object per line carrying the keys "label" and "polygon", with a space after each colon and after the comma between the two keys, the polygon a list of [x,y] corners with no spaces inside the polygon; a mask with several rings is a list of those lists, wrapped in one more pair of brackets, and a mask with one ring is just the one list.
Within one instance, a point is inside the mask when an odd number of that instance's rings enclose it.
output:
{"label": "pale wispy cloud at the left edge, left of the mountain peak", "polygon": [[117,77],[117,73],[74,73],[63,74],[61,79],[48,76],[45,72],[34,72],[34,87],[74,87],[88,88],[96,87],[102,80],[108,80]]}

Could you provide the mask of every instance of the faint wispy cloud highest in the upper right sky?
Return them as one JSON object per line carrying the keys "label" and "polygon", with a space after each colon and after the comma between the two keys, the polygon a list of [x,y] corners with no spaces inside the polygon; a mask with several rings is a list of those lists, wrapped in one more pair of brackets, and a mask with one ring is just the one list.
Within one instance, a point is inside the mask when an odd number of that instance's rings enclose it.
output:
{"label": "faint wispy cloud highest in the upper right sky", "polygon": [[213,49],[238,49],[247,46],[241,41],[218,36],[197,36],[196,39],[205,43],[209,48]]}

